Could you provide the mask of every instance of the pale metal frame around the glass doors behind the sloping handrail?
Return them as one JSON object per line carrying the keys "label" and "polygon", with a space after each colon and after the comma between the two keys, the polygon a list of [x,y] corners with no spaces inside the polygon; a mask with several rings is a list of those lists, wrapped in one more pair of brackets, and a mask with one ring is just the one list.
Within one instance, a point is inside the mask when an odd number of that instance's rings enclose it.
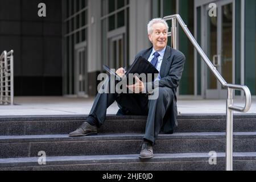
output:
{"label": "pale metal frame around the glass doors behind the sloping handrail", "polygon": [[[222,47],[222,38],[219,37],[221,36],[221,23],[222,23],[222,9],[220,9],[221,6],[226,5],[228,3],[233,3],[233,23],[232,23],[232,83],[234,84],[236,81],[236,1],[235,0],[207,0],[207,1],[202,1],[202,0],[197,0],[195,1],[195,7],[194,7],[194,12],[195,12],[195,25],[197,25],[197,7],[201,7],[201,32],[197,32],[197,26],[195,26],[195,35],[196,36],[201,36],[201,47],[204,50],[205,53],[207,53],[207,16],[208,16],[208,5],[209,3],[216,3],[217,4],[217,16],[218,17],[218,40],[217,40],[217,52],[219,53],[221,47]],[[196,51],[195,51],[196,52]],[[210,60],[212,60],[212,57],[209,57]],[[197,60],[197,52],[195,53],[195,60]],[[220,60],[221,63],[222,60]],[[196,63],[197,61],[195,61]],[[195,65],[195,71],[197,71],[197,64]],[[221,68],[220,68],[221,69]],[[217,81],[217,89],[207,89],[207,70],[209,68],[207,65],[204,63],[204,61],[201,61],[201,95],[203,98],[226,98],[226,89],[222,89],[222,86],[219,81]],[[197,78],[196,82],[197,84]],[[197,85],[195,85],[197,86]]]}

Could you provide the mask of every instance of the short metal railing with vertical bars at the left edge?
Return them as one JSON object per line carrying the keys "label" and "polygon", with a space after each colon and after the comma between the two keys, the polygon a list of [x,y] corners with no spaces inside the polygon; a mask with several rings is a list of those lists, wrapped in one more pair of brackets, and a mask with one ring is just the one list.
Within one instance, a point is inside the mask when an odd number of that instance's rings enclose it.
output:
{"label": "short metal railing with vertical bars at the left edge", "polygon": [[13,50],[0,56],[0,105],[13,105]]}

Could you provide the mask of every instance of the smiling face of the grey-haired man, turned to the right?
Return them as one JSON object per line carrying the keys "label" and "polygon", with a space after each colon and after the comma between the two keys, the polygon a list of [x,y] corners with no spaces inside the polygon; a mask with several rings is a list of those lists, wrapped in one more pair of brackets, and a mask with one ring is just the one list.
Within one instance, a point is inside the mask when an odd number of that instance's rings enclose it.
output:
{"label": "smiling face of the grey-haired man, turned to the right", "polygon": [[167,28],[163,23],[155,23],[152,26],[153,32],[148,35],[150,42],[153,44],[156,51],[162,50],[167,44]]}

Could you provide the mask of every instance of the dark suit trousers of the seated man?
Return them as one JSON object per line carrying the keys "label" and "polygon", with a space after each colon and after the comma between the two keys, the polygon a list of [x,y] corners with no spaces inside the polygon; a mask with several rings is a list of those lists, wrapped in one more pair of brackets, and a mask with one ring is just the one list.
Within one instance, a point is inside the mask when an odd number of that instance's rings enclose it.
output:
{"label": "dark suit trousers of the seated man", "polygon": [[[116,82],[108,81],[108,87],[115,86]],[[112,85],[110,85],[112,84]],[[107,90],[110,90],[110,89]],[[146,94],[135,93],[98,93],[89,115],[98,119],[98,127],[100,127],[106,119],[106,110],[114,101],[125,111],[129,111],[130,115],[147,115],[146,129],[144,139],[150,140],[155,144],[162,126],[164,125],[164,117],[172,108],[174,102],[174,92],[167,87],[159,87],[158,97],[155,100],[148,100]]]}

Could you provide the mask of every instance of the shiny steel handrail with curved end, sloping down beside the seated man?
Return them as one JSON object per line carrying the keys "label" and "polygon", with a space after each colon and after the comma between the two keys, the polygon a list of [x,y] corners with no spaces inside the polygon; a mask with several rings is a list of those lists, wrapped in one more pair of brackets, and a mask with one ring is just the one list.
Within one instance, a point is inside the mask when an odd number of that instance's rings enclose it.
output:
{"label": "shiny steel handrail with curved end, sloping down beside the seated man", "polygon": [[[212,71],[213,75],[217,78],[218,81],[221,82],[221,85],[224,88],[228,89],[228,98],[226,100],[226,170],[232,171],[233,170],[233,111],[238,111],[242,113],[246,113],[249,111],[251,106],[251,93],[247,86],[245,85],[234,85],[228,84],[224,78],[220,75],[217,71],[217,68],[214,67],[212,62],[208,59],[207,55],[204,53],[203,49],[199,46],[196,42],[196,39],[193,37],[191,32],[188,30],[187,25],[183,22],[179,14],[165,16],[164,20],[172,20],[172,27],[171,27],[171,34],[168,32],[168,35],[171,35],[172,38],[172,48],[176,49],[177,43],[177,28],[176,28],[176,20],[179,22],[181,28],[187,35],[188,39],[191,41],[193,46],[196,48],[197,52],[201,55],[205,63]],[[239,107],[233,105],[233,90],[243,90],[245,93],[245,106]]]}

